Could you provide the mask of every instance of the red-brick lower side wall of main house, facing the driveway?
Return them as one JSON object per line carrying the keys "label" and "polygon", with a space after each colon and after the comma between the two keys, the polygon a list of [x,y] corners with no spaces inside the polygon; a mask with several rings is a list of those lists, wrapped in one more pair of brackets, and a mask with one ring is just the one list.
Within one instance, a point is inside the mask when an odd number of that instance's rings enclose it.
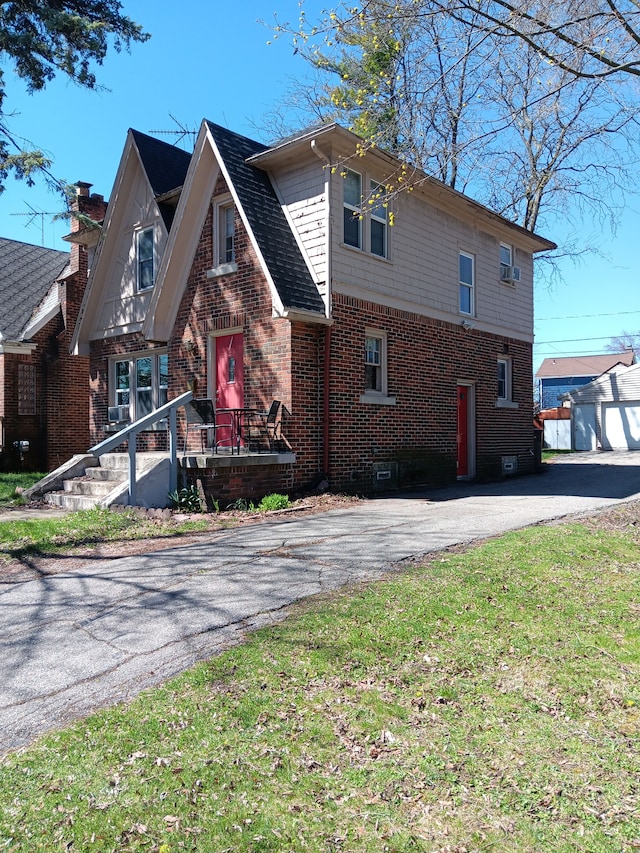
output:
{"label": "red-brick lower side wall of main house, facing the driveway", "polygon": [[[374,466],[392,463],[397,485],[456,477],[457,385],[475,389],[476,475],[501,475],[504,455],[533,470],[531,346],[339,294],[333,303],[330,468],[334,489],[375,485]],[[387,334],[388,392],[396,405],[361,403],[365,327]],[[517,409],[496,407],[497,359],[513,363]],[[395,474],[394,474],[395,476]]]}

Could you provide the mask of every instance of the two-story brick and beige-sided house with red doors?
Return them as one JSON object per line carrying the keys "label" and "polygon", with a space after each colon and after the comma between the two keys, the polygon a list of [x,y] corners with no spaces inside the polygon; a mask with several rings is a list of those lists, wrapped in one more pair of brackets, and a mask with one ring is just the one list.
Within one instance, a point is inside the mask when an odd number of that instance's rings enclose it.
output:
{"label": "two-story brick and beige-sided house with red doors", "polygon": [[194,438],[182,464],[216,497],[533,469],[533,255],[554,244],[427,176],[382,204],[402,166],[360,142],[205,121],[189,157],[129,131],[73,339],[93,442],[193,388],[288,410],[291,453]]}

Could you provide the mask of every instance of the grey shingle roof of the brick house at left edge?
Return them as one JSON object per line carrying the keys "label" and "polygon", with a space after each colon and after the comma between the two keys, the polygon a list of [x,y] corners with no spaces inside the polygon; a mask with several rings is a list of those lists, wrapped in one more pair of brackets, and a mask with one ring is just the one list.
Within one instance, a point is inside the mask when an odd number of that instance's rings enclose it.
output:
{"label": "grey shingle roof of the brick house at left edge", "polygon": [[0,237],[0,335],[19,341],[31,315],[69,263],[69,253]]}

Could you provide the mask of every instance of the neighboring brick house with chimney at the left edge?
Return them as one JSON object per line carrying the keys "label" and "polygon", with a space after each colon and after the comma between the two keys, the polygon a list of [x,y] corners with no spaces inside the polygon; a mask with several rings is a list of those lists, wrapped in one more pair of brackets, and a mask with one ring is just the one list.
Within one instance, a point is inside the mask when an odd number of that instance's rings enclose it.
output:
{"label": "neighboring brick house with chimney at the left edge", "polygon": [[[72,209],[104,215],[102,196],[77,184]],[[88,359],[69,354],[87,280],[92,231],[73,219],[71,252],[0,238],[0,469],[50,470],[89,439]],[[97,231],[85,242],[97,242]],[[22,445],[18,444],[22,442]],[[26,444],[28,442],[28,450]]]}

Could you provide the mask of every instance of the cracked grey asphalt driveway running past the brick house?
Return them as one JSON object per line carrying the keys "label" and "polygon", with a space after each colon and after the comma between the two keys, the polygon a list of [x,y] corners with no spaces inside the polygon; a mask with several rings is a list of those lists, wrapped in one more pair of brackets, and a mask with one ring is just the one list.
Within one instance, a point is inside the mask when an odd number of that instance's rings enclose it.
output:
{"label": "cracked grey asphalt driveway running past the brick house", "polygon": [[381,498],[0,587],[0,752],[133,697],[301,598],[634,499],[640,454],[575,454],[531,477]]}

